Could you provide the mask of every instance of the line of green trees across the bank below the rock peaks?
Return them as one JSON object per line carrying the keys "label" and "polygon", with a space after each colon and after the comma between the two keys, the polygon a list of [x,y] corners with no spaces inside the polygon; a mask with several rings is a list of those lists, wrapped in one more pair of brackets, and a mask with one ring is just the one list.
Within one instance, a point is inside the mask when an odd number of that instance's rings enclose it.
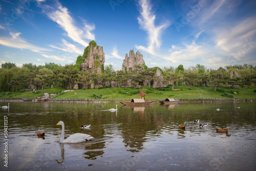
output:
{"label": "line of green trees across the bank below the rock peaks", "polygon": [[[254,87],[256,84],[256,67],[252,65],[230,65],[220,67],[219,69],[207,69],[205,66],[197,64],[184,69],[183,65],[177,68],[158,67],[145,68],[144,66],[135,66],[135,70],[115,71],[113,65],[104,67],[101,73],[90,73],[89,71],[80,71],[73,63],[65,66],[56,63],[45,63],[44,66],[36,66],[33,63],[25,63],[21,68],[16,67],[15,63],[6,62],[0,69],[0,92],[21,91],[28,88],[29,85],[35,86],[35,89],[44,89],[50,87],[62,87],[73,89],[75,84],[81,85],[81,88],[89,89],[93,83],[98,87],[105,86],[107,81],[116,81],[118,86],[125,88],[128,82],[132,86],[141,85],[144,81],[148,87],[151,87],[154,81],[162,81],[165,84],[186,84],[193,86],[215,86],[215,91],[220,85],[229,84],[231,87],[239,85],[240,87]],[[162,79],[156,76],[159,69],[163,75]],[[236,71],[239,77],[230,72]]]}

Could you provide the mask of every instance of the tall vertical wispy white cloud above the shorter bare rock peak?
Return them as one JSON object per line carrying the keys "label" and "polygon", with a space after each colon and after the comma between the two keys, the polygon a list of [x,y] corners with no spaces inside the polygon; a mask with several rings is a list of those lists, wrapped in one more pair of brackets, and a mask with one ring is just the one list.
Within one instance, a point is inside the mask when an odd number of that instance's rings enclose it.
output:
{"label": "tall vertical wispy white cloud above the shorter bare rock peak", "polygon": [[135,45],[135,47],[150,54],[155,54],[155,48],[160,48],[161,46],[161,34],[163,30],[170,25],[170,22],[167,20],[161,25],[155,26],[156,15],[152,12],[150,2],[147,0],[140,0],[139,6],[141,9],[138,22],[140,27],[148,34],[148,47],[138,45]]}

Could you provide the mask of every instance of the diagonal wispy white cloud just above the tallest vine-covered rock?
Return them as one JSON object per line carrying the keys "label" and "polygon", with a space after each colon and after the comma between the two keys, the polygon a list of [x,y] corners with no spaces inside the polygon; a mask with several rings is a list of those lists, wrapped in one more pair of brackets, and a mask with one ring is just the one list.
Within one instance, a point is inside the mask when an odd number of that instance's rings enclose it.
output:
{"label": "diagonal wispy white cloud just above the tallest vine-covered rock", "polygon": [[49,6],[42,6],[42,8],[44,8],[44,11],[50,19],[56,22],[60,28],[65,30],[68,37],[73,41],[78,42],[83,47],[87,47],[89,45],[86,39],[95,39],[94,34],[91,32],[95,29],[95,26],[84,23],[82,28],[78,28],[68,9],[66,7],[62,7],[58,1],[56,2],[56,8]]}

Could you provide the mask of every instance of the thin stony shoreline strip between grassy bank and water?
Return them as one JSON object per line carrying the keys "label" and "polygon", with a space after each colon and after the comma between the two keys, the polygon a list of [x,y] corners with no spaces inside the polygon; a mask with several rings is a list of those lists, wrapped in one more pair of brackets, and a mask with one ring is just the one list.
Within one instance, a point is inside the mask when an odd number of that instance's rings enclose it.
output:
{"label": "thin stony shoreline strip between grassy bank and water", "polygon": [[[239,101],[256,101],[252,99],[248,100],[180,100],[178,103],[211,103],[211,102],[239,102]],[[0,99],[0,102],[52,102],[52,103],[119,103],[120,101],[84,101],[84,100],[47,100],[47,101],[32,101],[23,99]],[[154,101],[160,103],[159,101]]]}

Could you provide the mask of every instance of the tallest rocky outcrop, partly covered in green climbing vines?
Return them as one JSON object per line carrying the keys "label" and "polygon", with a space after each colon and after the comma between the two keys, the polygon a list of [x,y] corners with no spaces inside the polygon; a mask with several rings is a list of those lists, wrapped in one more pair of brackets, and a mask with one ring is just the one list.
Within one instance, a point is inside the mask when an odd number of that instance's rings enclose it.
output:
{"label": "tallest rocky outcrop, partly covered in green climbing vines", "polygon": [[101,46],[97,46],[96,42],[92,40],[89,46],[84,49],[84,62],[81,63],[81,70],[88,70],[90,73],[101,73],[102,66],[105,62],[105,54]]}

